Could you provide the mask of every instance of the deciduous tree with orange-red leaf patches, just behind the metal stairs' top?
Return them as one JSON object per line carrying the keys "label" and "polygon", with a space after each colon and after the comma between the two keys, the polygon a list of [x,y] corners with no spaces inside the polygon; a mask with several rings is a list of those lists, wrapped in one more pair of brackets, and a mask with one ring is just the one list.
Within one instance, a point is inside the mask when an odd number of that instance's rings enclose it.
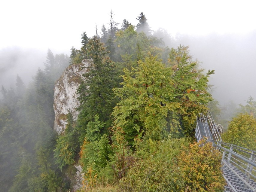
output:
{"label": "deciduous tree with orange-red leaf patches, just behind the metal stairs' top", "polygon": [[180,103],[178,116],[172,115],[181,126],[181,135],[194,137],[195,119],[200,112],[207,111],[207,104],[212,96],[207,92],[209,75],[214,74],[209,70],[203,75],[197,70],[197,62],[191,62],[188,47],[179,46],[172,49],[169,62],[174,70],[172,79],[175,103]]}

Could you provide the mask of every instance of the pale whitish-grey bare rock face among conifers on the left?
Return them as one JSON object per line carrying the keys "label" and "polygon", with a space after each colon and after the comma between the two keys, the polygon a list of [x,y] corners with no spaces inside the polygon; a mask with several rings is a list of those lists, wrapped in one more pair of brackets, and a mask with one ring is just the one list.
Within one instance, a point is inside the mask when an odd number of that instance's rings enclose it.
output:
{"label": "pale whitish-grey bare rock face among conifers on the left", "polygon": [[73,64],[65,69],[61,78],[55,83],[53,108],[55,113],[54,129],[62,133],[67,124],[67,114],[71,112],[73,119],[77,120],[80,106],[76,90],[84,80],[82,74],[89,72],[93,65],[92,59],[84,59],[80,64]]}

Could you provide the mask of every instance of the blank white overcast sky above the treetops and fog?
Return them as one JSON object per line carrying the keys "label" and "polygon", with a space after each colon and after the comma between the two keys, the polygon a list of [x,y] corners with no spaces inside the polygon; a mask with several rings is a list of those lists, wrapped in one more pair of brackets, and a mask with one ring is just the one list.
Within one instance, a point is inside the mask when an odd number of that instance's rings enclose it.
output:
{"label": "blank white overcast sky above the treetops and fog", "polygon": [[[168,3],[167,3],[168,2]],[[125,18],[133,25],[143,12],[152,30],[175,34],[246,33],[256,29],[255,2],[228,0],[65,1],[5,0],[1,2],[0,48],[10,46],[59,51],[80,48],[81,33],[95,35],[95,25],[108,27]]]}

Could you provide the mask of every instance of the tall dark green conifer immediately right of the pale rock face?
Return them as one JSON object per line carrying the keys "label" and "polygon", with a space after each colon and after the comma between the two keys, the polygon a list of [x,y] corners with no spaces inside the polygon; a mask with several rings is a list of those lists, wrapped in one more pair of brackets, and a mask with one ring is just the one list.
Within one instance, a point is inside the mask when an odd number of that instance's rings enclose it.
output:
{"label": "tall dark green conifer immediately right of the pale rock face", "polygon": [[104,58],[105,55],[105,48],[94,36],[88,42],[88,56],[93,59],[94,64],[90,67],[90,72],[83,74],[85,82],[78,88],[82,102],[78,122],[84,130],[87,122],[94,121],[96,114],[99,115],[99,121],[105,123],[105,128],[111,124],[110,114],[115,105],[112,91],[115,87],[115,75],[114,64],[108,57]]}

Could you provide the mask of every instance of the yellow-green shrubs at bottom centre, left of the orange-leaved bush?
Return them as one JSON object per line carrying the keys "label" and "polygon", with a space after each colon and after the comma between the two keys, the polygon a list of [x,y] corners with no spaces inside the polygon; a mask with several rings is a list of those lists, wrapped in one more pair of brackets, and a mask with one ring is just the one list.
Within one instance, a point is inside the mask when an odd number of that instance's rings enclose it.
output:
{"label": "yellow-green shrubs at bottom centre, left of the orange-leaved bush", "polygon": [[185,139],[144,140],[137,151],[138,160],[120,180],[118,191],[181,191],[184,173],[176,161],[183,145],[187,145]]}

